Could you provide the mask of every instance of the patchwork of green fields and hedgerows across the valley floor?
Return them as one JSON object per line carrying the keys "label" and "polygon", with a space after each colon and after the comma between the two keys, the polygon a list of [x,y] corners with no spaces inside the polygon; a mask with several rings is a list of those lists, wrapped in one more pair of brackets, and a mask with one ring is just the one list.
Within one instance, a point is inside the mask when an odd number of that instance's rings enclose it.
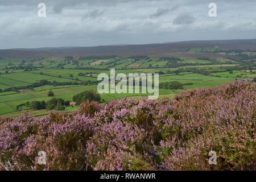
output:
{"label": "patchwork of green fields and hedgerows across the valley floor", "polygon": [[[166,60],[164,58],[157,59],[151,57],[134,57],[133,59],[125,57],[112,58],[88,58],[79,59],[73,57],[72,60],[67,60],[61,57],[39,57],[36,59],[1,59],[0,60],[0,116],[17,117],[22,114],[22,111],[16,111],[16,106],[24,104],[27,101],[49,101],[51,98],[63,98],[65,101],[72,101],[75,94],[86,91],[97,91],[96,84],[82,85],[85,82],[97,81],[97,76],[100,73],[106,73],[110,76],[110,68],[115,68],[115,74],[125,73],[156,73],[162,72],[159,75],[159,82],[178,81],[181,84],[192,83],[192,85],[184,85],[185,90],[196,88],[207,88],[222,84],[228,84],[234,80],[242,80],[245,78],[256,77],[255,68],[249,70],[237,69],[245,65],[245,63],[252,63],[255,60],[234,61],[225,57],[232,53],[218,52],[216,47],[193,48],[187,51],[191,57],[179,57],[176,62],[173,60]],[[193,57],[194,54],[203,54],[200,57],[205,57],[210,54],[210,59],[201,59]],[[217,55],[214,57],[213,55]],[[256,52],[243,52],[247,55],[256,55]],[[234,53],[232,56],[237,56]],[[223,56],[223,57],[221,57]],[[197,56],[199,57],[199,56]],[[241,59],[238,57],[237,60]],[[174,67],[167,67],[168,64],[174,64]],[[18,67],[23,67],[22,69]],[[203,71],[210,72],[208,75],[193,72],[179,72],[174,71],[184,69],[198,68]],[[229,70],[232,70],[230,72]],[[6,73],[7,72],[7,73]],[[19,90],[19,92],[3,92],[7,88],[18,86],[28,86],[39,82],[41,80],[69,82],[69,85],[43,85],[37,88],[26,88]],[[81,85],[73,85],[70,82],[78,82]],[[49,90],[55,94],[54,97],[48,97]],[[15,90],[18,91],[18,90]],[[159,99],[163,97],[174,97],[179,94],[181,90],[159,90]],[[142,98],[147,97],[148,94],[101,94],[102,104],[115,100],[118,98]],[[77,107],[67,107],[65,111],[71,111]],[[26,112],[40,116],[48,114],[48,110],[26,110]]]}

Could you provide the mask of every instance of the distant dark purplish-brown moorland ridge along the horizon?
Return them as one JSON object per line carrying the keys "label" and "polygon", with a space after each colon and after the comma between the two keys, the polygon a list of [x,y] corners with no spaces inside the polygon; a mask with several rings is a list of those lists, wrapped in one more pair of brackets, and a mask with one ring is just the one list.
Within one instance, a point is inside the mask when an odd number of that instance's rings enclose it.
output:
{"label": "distant dark purplish-brown moorland ridge along the horizon", "polygon": [[35,48],[35,49],[2,49],[0,57],[4,58],[31,58],[31,57],[63,57],[92,56],[92,55],[165,55],[170,52],[185,52],[193,48],[218,47],[221,50],[240,49],[243,51],[256,50],[256,39],[246,40],[197,40],[175,43],[127,45],[127,46],[97,46],[97,47],[59,47],[59,48]]}

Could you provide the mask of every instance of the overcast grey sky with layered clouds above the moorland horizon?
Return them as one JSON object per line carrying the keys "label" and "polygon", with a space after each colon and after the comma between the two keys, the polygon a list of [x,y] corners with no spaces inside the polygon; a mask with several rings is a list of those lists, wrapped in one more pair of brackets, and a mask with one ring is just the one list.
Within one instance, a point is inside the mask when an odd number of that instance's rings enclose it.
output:
{"label": "overcast grey sky with layered clouds above the moorland horizon", "polygon": [[[38,16],[46,4],[47,17]],[[209,17],[209,3],[217,17]],[[256,38],[255,0],[0,0],[0,49]]]}

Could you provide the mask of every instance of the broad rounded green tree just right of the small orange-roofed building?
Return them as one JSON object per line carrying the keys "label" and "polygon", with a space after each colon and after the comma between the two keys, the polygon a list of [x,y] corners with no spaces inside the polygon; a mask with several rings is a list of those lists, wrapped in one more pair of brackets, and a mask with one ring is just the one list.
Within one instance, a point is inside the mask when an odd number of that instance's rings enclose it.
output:
{"label": "broad rounded green tree just right of the small orange-roofed building", "polygon": [[100,102],[101,101],[101,96],[100,96],[100,94],[97,94],[93,90],[90,90],[90,91],[85,91],[85,92],[81,92],[79,94],[76,94],[73,97],[73,101],[76,102],[76,105],[79,105],[79,104],[81,104],[82,102],[85,102],[85,101]]}

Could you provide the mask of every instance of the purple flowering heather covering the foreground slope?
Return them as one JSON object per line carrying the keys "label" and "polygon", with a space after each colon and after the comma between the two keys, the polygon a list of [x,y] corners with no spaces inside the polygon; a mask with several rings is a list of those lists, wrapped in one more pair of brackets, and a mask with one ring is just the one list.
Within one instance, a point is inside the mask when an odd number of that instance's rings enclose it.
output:
{"label": "purple flowering heather covering the foreground slope", "polygon": [[[256,170],[255,118],[255,84],[240,81],[172,100],[85,102],[73,113],[1,118],[0,169]],[[211,150],[217,165],[208,163]],[[39,151],[46,165],[37,163]]]}

